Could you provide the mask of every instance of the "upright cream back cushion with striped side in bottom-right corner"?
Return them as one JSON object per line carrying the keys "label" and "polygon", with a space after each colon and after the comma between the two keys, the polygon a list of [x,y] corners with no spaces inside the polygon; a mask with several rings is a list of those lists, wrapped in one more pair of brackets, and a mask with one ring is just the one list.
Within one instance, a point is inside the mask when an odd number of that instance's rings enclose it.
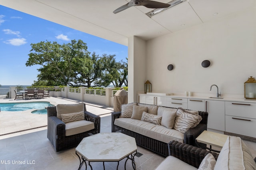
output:
{"label": "upright cream back cushion with striped side in bottom-right corner", "polygon": [[256,164],[241,138],[228,136],[214,170],[256,170]]}

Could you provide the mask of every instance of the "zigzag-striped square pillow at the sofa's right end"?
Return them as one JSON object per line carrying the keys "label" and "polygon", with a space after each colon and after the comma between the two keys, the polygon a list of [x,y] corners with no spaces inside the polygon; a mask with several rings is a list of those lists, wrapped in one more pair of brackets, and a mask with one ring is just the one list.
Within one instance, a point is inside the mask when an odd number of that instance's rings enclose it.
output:
{"label": "zigzag-striped square pillow at the sofa's right end", "polygon": [[184,112],[182,109],[178,109],[174,121],[174,129],[181,133],[185,133],[188,129],[196,127],[201,120],[202,117],[200,115],[194,115],[192,113]]}

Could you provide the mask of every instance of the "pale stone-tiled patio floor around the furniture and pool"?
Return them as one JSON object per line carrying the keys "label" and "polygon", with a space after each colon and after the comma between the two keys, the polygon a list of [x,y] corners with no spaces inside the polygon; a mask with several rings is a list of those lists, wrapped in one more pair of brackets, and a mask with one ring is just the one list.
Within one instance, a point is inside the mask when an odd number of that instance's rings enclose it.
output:
{"label": "pale stone-tiled patio floor around the furniture and pool", "polygon": [[[62,98],[45,98],[40,101],[49,101],[52,104],[74,104],[77,101]],[[29,100],[33,101],[33,100]],[[39,100],[35,100],[39,101]],[[6,102],[6,100],[0,100]],[[8,102],[23,102],[10,100]],[[111,132],[111,107],[87,104],[86,109],[101,117],[101,133]],[[35,116],[35,117],[34,117]],[[36,117],[37,116],[37,117]],[[47,115],[33,115],[30,111],[20,113],[0,112],[1,133],[11,133],[0,136],[0,170],[77,170],[79,166],[75,147],[61,152],[55,152],[47,139],[47,127],[23,131],[26,128],[35,128],[47,125]],[[25,118],[25,120],[24,120]],[[18,133],[12,133],[21,131]],[[252,156],[256,157],[256,143],[244,141],[251,149]],[[218,150],[217,148],[213,148]],[[137,170],[154,170],[164,157],[154,154],[138,146],[138,152],[143,155],[135,156]],[[16,161],[16,162],[15,162]],[[25,161],[23,164],[22,161]],[[115,170],[117,163],[106,162],[106,170]],[[94,170],[103,170],[102,162],[93,162]],[[85,169],[83,165],[81,169]],[[124,161],[120,162],[119,170],[124,169]],[[131,162],[127,163],[127,170],[131,170]]]}

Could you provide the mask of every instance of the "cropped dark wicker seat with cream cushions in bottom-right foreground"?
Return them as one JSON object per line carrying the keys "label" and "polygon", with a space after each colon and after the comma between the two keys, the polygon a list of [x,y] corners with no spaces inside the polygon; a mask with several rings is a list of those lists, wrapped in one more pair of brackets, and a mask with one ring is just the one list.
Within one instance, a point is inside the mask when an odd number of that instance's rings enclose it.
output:
{"label": "cropped dark wicker seat with cream cushions in bottom-right foreground", "polygon": [[170,141],[168,150],[155,170],[256,170],[256,158],[239,137],[228,137],[219,154],[178,141]]}

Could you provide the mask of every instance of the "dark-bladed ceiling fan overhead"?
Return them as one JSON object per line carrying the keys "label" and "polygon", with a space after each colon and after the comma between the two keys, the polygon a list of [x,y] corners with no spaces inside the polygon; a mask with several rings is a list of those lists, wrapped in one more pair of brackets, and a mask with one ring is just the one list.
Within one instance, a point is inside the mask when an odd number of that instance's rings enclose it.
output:
{"label": "dark-bladed ceiling fan overhead", "polygon": [[119,8],[114,10],[113,13],[116,14],[132,6],[146,6],[147,8],[168,8],[170,4],[165,4],[162,2],[156,2],[152,0],[131,0],[127,4],[120,6]]}

